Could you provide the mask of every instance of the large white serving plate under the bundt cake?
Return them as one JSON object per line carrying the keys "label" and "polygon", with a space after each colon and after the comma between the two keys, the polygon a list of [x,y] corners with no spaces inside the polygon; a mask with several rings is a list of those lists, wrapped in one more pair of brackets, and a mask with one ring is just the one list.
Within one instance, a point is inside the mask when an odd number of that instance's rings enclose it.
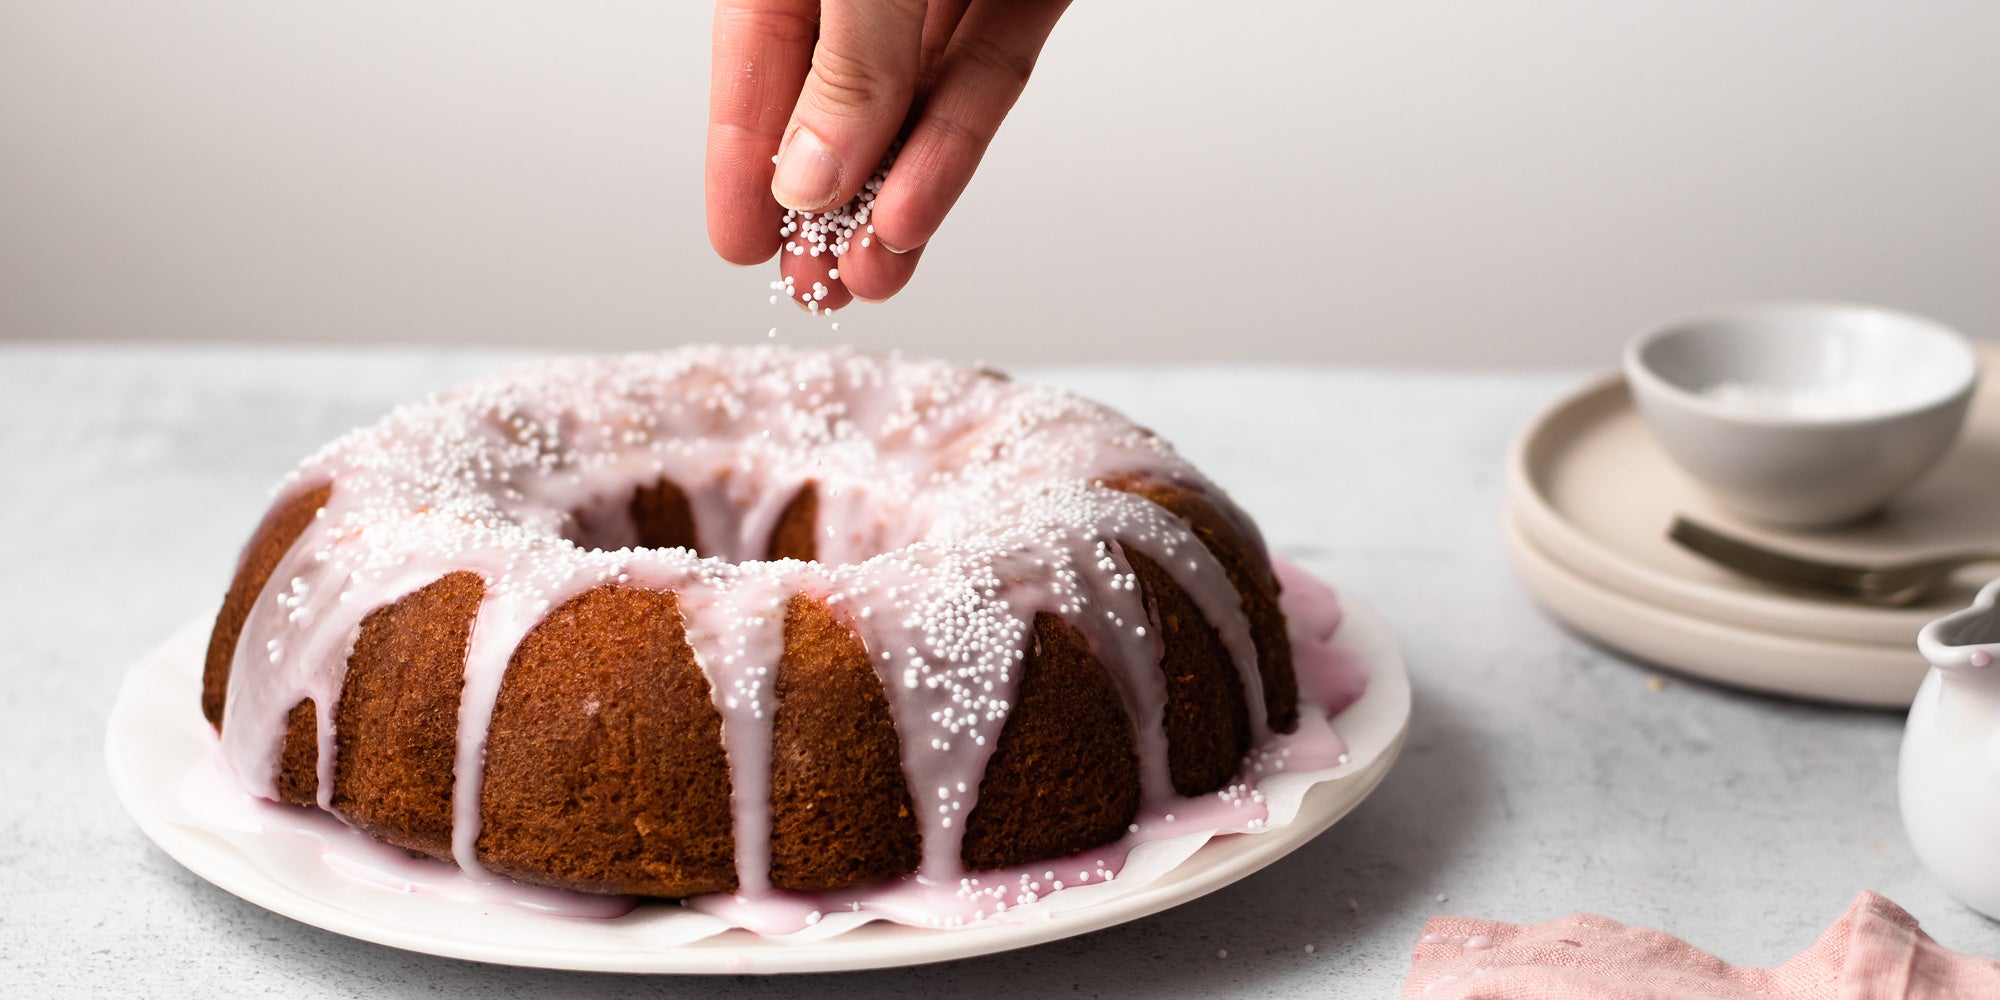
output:
{"label": "large white serving plate under the bundt cake", "polygon": [[[126,674],[112,708],[104,756],[120,802],[162,850],[194,874],[272,912],[392,948],[506,966],[598,972],[838,972],[972,958],[1156,914],[1236,882],[1306,844],[1360,804],[1388,774],[1410,724],[1410,680],[1386,622],[1342,600],[1334,640],[1370,670],[1368,692],[1336,718],[1348,764],[1306,792],[1294,822],[1260,834],[1208,840],[1164,878],[1132,884],[1072,910],[1010,910],[1006,922],[916,928],[874,922],[846,934],[794,942],[728,930],[660,946],[662,922],[688,918],[672,904],[590,920],[514,906],[468,904],[398,892],[332,872],[314,858],[238,850],[224,832],[182,822],[182,788],[214,744],[194,710],[208,622],[194,622]],[[1100,886],[1102,888],[1102,886]],[[1048,900],[1060,900],[1050,894]]]}

